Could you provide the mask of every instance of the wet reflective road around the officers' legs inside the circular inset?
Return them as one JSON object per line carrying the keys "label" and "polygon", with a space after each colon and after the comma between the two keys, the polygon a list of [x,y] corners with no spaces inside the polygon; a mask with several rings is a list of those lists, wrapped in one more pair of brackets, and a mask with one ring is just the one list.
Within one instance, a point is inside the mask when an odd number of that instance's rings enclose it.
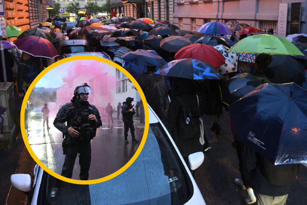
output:
{"label": "wet reflective road around the officers' legs inside the circular inset", "polygon": [[[43,129],[42,119],[29,121],[28,141],[40,161],[49,169],[61,174],[65,155],[62,150],[62,133],[53,126],[54,118],[49,118],[50,130]],[[141,140],[144,133],[144,124],[138,124],[134,119],[136,139]],[[46,127],[46,125],[45,125]],[[114,173],[124,166],[134,155],[140,143],[124,143],[124,124],[114,120],[114,123],[103,121],[97,129],[96,137],[91,142],[92,159],[89,171],[89,180],[99,179]],[[79,179],[79,159],[77,157],[72,179]]]}

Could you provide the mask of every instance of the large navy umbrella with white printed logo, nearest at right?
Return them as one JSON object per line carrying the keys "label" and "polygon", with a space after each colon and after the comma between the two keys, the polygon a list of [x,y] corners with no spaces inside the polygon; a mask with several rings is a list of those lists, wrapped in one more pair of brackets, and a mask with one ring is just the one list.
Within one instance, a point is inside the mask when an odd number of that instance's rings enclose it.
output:
{"label": "large navy umbrella with white printed logo, nearest at right", "polygon": [[262,84],[229,106],[234,139],[271,163],[307,163],[307,90]]}

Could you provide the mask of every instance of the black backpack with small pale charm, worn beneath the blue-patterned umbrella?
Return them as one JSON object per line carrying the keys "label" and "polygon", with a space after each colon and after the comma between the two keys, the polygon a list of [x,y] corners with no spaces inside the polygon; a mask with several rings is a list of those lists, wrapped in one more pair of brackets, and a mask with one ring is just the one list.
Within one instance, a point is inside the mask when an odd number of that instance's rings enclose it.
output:
{"label": "black backpack with small pale charm, worn beneath the blue-patterned umbrella", "polygon": [[[198,101],[198,96],[197,101]],[[200,136],[200,108],[199,106],[186,106],[179,96],[176,99],[181,105],[180,114],[177,120],[178,137],[180,139],[199,139]]]}

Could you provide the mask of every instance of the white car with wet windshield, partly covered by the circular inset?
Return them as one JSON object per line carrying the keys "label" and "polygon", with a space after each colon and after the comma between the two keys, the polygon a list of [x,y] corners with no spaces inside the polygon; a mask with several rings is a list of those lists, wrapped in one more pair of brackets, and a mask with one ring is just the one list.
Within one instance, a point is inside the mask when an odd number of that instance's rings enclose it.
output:
{"label": "white car with wet windshield, partly covered by the circular inset", "polygon": [[[113,179],[90,185],[70,184],[37,165],[33,184],[28,174],[11,175],[11,183],[30,195],[32,205],[206,204],[174,141],[151,107],[149,124],[139,157]],[[202,152],[191,154],[189,166],[194,170],[203,160]]]}

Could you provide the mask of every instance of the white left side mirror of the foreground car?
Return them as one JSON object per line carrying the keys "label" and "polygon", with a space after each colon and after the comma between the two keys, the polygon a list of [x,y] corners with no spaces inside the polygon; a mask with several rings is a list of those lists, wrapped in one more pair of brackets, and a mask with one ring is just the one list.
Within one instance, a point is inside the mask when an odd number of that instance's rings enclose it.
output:
{"label": "white left side mirror of the foreground car", "polygon": [[31,191],[31,176],[29,174],[13,174],[11,175],[11,183],[16,189],[29,192]]}

